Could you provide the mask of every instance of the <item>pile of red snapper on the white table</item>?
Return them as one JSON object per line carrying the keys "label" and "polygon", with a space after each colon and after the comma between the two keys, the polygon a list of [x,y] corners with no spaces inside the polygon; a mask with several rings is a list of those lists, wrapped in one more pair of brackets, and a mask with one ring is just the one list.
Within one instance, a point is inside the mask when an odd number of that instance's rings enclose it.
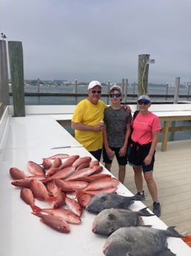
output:
{"label": "pile of red snapper on the white table", "polygon": [[[81,223],[81,214],[91,197],[117,190],[119,181],[101,173],[102,169],[98,160],[89,156],[55,154],[43,158],[40,164],[28,161],[31,175],[12,167],[10,176],[11,184],[21,188],[20,197],[31,207],[32,214],[52,229],[69,233],[70,223]],[[41,209],[36,200],[50,203],[50,208]]]}

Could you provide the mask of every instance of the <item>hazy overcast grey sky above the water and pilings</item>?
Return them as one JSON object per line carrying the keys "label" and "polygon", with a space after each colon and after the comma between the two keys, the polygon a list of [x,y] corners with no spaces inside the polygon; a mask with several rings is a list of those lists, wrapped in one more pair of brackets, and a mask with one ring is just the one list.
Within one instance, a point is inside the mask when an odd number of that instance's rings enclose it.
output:
{"label": "hazy overcast grey sky above the water and pilings", "polygon": [[22,42],[24,79],[191,81],[191,0],[0,0],[0,33]]}

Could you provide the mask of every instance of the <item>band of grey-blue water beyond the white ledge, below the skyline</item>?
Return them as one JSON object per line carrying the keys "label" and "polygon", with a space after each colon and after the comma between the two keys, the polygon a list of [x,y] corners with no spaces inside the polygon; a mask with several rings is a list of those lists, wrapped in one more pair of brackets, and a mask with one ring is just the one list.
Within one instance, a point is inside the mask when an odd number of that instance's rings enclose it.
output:
{"label": "band of grey-blue water beyond the white ledge, below the skyline", "polygon": [[[74,93],[76,90],[75,85],[60,85],[60,86],[37,86],[37,85],[25,85],[24,91],[27,93]],[[77,85],[78,93],[86,93],[87,92],[87,85]],[[104,85],[102,88],[103,93],[107,93],[108,86]],[[173,98],[170,97],[170,95],[175,94],[175,88],[169,87],[167,89],[166,85],[148,85],[147,91],[150,94],[164,94],[167,95],[167,97],[152,97],[152,100],[170,100],[173,101]],[[11,87],[10,87],[11,92]],[[137,94],[138,93],[138,87],[137,85],[134,87],[133,85],[128,85],[127,87],[127,93],[128,94]],[[191,100],[191,92],[189,91],[189,88],[186,86],[180,86],[178,90],[178,94],[186,95],[184,98],[179,97],[178,100]],[[168,96],[169,95],[169,96]],[[188,95],[188,96],[187,96]],[[25,96],[24,101],[26,105],[76,105],[81,99],[84,99],[84,96]],[[101,99],[108,103],[108,97],[107,96],[101,96]],[[128,100],[135,100],[136,97],[128,96]],[[12,97],[10,97],[10,103],[12,104]]]}

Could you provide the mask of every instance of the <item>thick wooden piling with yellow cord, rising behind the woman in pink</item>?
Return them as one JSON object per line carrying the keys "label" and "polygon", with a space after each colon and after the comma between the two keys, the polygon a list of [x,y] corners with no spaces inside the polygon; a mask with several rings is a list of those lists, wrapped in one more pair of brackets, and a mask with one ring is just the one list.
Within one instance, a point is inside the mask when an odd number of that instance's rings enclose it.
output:
{"label": "thick wooden piling with yellow cord, rising behind the woman in pink", "polygon": [[138,96],[147,94],[150,54],[138,55]]}

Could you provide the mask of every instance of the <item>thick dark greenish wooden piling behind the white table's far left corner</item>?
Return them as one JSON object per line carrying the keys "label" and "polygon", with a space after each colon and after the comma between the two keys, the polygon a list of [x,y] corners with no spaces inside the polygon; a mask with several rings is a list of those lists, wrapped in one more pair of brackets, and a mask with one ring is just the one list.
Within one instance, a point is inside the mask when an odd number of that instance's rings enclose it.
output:
{"label": "thick dark greenish wooden piling behind the white table's far left corner", "polygon": [[21,42],[8,42],[14,116],[25,116],[24,69]]}

